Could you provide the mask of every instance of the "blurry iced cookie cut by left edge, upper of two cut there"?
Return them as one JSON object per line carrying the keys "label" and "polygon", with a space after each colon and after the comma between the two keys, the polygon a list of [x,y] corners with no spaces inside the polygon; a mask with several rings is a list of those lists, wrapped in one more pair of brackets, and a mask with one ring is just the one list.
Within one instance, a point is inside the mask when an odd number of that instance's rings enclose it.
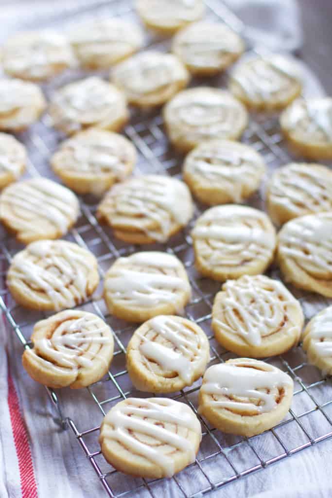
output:
{"label": "blurry iced cookie cut by left edge, upper of two cut there", "polygon": [[44,95],[34,83],[0,79],[0,130],[24,131],[45,107]]}

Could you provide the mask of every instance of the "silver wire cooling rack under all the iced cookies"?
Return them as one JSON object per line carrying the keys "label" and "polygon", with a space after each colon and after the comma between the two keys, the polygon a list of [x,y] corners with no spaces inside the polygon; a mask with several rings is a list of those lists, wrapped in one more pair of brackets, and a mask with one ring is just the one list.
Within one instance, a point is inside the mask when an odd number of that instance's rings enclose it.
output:
{"label": "silver wire cooling rack under all the iced cookies", "polygon": [[[245,34],[242,23],[218,0],[208,0],[208,16],[226,22],[230,27]],[[66,25],[77,21],[78,18],[104,15],[121,15],[134,17],[132,3],[129,0],[104,0],[94,1],[88,6],[81,3],[74,10],[67,10],[53,19],[34,19],[33,27],[45,25]],[[32,26],[20,26],[20,29]],[[150,36],[150,35],[149,35]],[[165,50],[167,41],[161,41],[150,36],[148,45]],[[82,73],[71,71],[64,76],[56,78],[52,84],[44,86],[44,91],[49,96],[54,87],[60,86],[72,79],[82,77]],[[224,85],[224,77],[205,80],[205,84]],[[195,84],[201,82],[196,80]],[[181,176],[182,157],[175,155],[167,142],[162,119],[156,113],[134,113],[130,124],[125,128],[126,135],[134,142],[139,151],[137,171],[156,172]],[[28,176],[43,174],[54,178],[48,166],[50,155],[57,148],[63,136],[49,126],[46,116],[41,122],[33,125],[27,132],[21,133],[19,139],[25,143],[29,151]],[[287,152],[279,131],[276,116],[262,118],[252,117],[250,124],[243,135],[243,141],[253,146],[263,156],[268,166],[268,174],[287,162],[292,157]],[[76,227],[66,237],[75,241],[82,247],[95,253],[101,277],[111,263],[120,255],[128,255],[137,247],[119,243],[112,238],[107,227],[98,224],[95,218],[96,202],[88,197],[81,199],[81,217]],[[252,196],[248,204],[264,209],[264,185],[260,192]],[[202,207],[197,204],[196,216],[200,215]],[[166,250],[176,254],[185,264],[193,288],[193,298],[186,307],[186,316],[199,324],[207,333],[211,345],[211,363],[223,362],[234,357],[225,351],[215,341],[211,333],[211,306],[215,293],[220,284],[203,278],[194,268],[192,241],[189,236],[192,224],[182,233],[169,241],[168,245],[154,245],[143,249]],[[13,238],[3,234],[0,243],[0,306],[8,322],[8,328],[13,329],[24,348],[29,348],[29,337],[33,324],[47,316],[45,313],[26,313],[15,304],[5,287],[5,274],[10,260],[21,249]],[[141,249],[141,248],[140,248]],[[279,278],[278,269],[272,267],[268,274]],[[302,293],[291,288],[294,295],[300,299],[306,318],[310,318],[319,309],[330,304],[326,299],[316,295]],[[147,396],[132,390],[132,385],[125,370],[125,347],[134,330],[134,326],[112,317],[104,301],[95,297],[78,307],[86,311],[93,311],[101,316],[114,331],[115,351],[109,373],[96,384],[88,387],[91,403],[96,403],[102,416],[117,401],[127,396]],[[264,434],[247,438],[225,435],[212,428],[201,417],[203,426],[203,439],[194,464],[184,469],[167,480],[167,490],[171,494],[181,497],[202,497],[211,490],[240,479],[247,474],[263,469],[283,458],[297,453],[304,448],[323,441],[332,436],[332,383],[324,378],[315,368],[307,364],[306,356],[301,347],[293,348],[290,352],[266,360],[288,372],[295,381],[295,392],[292,409],[285,420]],[[197,397],[200,381],[181,392],[172,395],[174,399],[188,403],[197,416]],[[56,417],[60,418],[64,428],[69,426],[77,441],[82,447],[90,464],[93,466],[100,482],[110,497],[159,497],[165,492],[165,480],[144,480],[124,477],[113,469],[99,451],[99,427],[92,427],[85,431],[79,430],[79,414],[66,417],[66,403],[62,400],[60,391],[47,389],[53,405],[56,407]],[[150,394],[149,394],[150,395]],[[75,391],[75,396],[80,396],[80,391]],[[89,406],[87,405],[89,409]]]}

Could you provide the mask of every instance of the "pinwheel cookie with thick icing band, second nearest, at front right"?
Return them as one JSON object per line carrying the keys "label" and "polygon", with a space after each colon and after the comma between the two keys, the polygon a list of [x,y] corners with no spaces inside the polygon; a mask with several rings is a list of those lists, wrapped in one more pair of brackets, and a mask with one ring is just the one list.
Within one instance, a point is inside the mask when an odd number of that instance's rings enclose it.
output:
{"label": "pinwheel cookie with thick icing band, second nearest, at front right", "polygon": [[291,377],[277,367],[249,358],[228,360],[204,374],[199,413],[222,432],[255,436],[285,417],[293,388]]}

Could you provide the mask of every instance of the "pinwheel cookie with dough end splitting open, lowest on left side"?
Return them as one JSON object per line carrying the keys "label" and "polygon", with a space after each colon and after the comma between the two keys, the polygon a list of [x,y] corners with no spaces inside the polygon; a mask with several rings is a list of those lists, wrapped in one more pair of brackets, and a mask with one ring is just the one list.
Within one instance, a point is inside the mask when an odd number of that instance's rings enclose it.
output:
{"label": "pinwheel cookie with dough end splitting open, lowest on left side", "polygon": [[97,315],[66,310],[37,322],[23,367],[48,387],[79,389],[100,380],[113,357],[110,327]]}

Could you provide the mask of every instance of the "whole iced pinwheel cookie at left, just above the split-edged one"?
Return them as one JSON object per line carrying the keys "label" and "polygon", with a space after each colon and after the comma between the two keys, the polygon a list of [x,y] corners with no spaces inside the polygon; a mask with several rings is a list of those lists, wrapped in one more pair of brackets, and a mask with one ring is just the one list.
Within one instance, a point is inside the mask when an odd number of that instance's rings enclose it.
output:
{"label": "whole iced pinwheel cookie at left, just above the split-edged one", "polygon": [[7,285],[25,308],[60,311],[81,304],[99,283],[97,260],[67,241],[37,241],[17,252]]}

